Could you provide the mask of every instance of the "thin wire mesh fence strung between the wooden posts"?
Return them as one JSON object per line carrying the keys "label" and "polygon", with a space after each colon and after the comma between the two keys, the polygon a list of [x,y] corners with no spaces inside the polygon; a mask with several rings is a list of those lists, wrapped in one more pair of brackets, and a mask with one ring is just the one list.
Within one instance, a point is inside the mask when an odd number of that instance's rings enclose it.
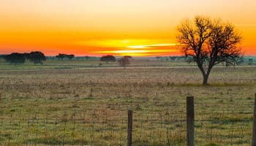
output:
{"label": "thin wire mesh fence strung between the wooden posts", "polygon": [[[254,104],[195,101],[195,144],[251,145]],[[240,108],[238,108],[240,107]],[[243,108],[241,108],[243,107]],[[186,145],[186,105],[150,113],[133,111],[133,145]],[[241,111],[240,109],[244,109]],[[1,145],[127,145],[127,110],[112,114],[64,110],[0,118]]]}

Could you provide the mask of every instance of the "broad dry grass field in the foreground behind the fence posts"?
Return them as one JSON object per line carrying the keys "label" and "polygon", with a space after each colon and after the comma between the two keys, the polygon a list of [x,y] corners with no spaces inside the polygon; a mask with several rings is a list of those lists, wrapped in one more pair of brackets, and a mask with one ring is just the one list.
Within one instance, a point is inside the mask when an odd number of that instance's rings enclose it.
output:
{"label": "broad dry grass field in the foreground behind the fence posts", "polygon": [[195,96],[196,145],[250,145],[256,68],[194,67],[0,72],[1,145],[185,145]]}

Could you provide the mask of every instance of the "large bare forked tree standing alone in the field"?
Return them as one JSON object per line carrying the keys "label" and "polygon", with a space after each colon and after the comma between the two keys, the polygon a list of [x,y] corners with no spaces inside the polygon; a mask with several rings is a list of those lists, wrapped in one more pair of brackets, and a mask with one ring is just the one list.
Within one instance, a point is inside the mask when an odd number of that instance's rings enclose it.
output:
{"label": "large bare forked tree standing alone in the field", "polygon": [[195,62],[203,74],[203,85],[213,66],[236,66],[242,58],[241,34],[230,23],[197,16],[194,21],[185,20],[178,26],[177,40],[187,62]]}

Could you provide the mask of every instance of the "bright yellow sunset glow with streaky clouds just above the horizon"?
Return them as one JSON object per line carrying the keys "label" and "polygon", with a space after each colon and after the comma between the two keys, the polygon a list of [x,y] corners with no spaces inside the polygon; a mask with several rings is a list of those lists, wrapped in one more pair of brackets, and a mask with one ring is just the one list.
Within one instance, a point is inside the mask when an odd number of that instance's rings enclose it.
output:
{"label": "bright yellow sunset glow with streaky clouds just above the horizon", "polygon": [[[153,44],[154,42],[170,42],[169,40],[154,40],[154,39],[110,39],[110,40],[91,40],[88,42],[78,42],[79,45],[86,46],[97,46],[103,47],[103,50],[91,51],[89,53],[99,53],[99,54],[113,54],[113,55],[158,55],[159,53],[175,53],[177,50],[175,43],[163,43],[163,44]],[[140,45],[147,44],[147,45]],[[117,50],[105,50],[108,48],[116,48]],[[165,48],[162,48],[165,47]],[[170,48],[166,48],[170,47]]]}

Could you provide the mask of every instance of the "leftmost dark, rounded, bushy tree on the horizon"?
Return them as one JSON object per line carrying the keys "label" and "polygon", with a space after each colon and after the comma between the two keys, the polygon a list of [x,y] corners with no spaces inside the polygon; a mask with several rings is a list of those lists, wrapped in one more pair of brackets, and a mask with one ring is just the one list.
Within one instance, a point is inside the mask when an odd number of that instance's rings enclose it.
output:
{"label": "leftmost dark, rounded, bushy tree on the horizon", "polygon": [[24,64],[26,56],[23,53],[12,53],[5,56],[5,60],[10,64]]}

